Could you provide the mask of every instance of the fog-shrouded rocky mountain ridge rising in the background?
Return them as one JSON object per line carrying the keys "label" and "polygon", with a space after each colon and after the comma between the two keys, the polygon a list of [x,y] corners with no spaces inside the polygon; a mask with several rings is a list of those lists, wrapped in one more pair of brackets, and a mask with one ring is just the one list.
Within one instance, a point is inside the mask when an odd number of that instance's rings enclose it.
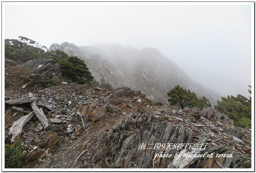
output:
{"label": "fog-shrouded rocky mountain ridge rising in the background", "polygon": [[64,42],[50,46],[50,50],[56,49],[85,60],[98,82],[110,83],[114,88],[141,90],[154,101],[167,102],[167,92],[177,84],[194,91],[199,97],[206,96],[212,104],[217,104],[217,99],[221,99],[220,94],[190,79],[156,48],[138,50],[119,44],[78,47]]}

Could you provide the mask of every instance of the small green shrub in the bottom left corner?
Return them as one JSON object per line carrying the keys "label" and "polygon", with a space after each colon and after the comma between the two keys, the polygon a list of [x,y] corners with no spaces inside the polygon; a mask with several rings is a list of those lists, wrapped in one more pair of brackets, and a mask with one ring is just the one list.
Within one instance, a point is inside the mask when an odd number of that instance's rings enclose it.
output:
{"label": "small green shrub in the bottom left corner", "polygon": [[4,167],[5,168],[19,168],[21,165],[20,157],[21,157],[21,149],[22,142],[20,139],[17,139],[14,144],[8,145],[5,144],[5,152],[4,152]]}

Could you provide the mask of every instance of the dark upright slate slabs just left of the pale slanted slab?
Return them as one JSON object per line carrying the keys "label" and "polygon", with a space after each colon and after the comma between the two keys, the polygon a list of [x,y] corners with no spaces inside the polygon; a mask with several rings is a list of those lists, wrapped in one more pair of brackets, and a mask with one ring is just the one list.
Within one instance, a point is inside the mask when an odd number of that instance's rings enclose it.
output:
{"label": "dark upright slate slabs just left of the pale slanted slab", "polygon": [[[138,149],[140,144],[146,144],[146,148],[153,148],[156,142],[190,143],[192,134],[186,133],[183,125],[175,126],[167,121],[151,123],[145,113],[142,115],[130,113],[124,117],[121,124],[110,129],[105,134],[105,138],[104,152],[100,160],[101,167],[108,167],[109,164],[114,163],[117,168],[152,168],[152,157],[161,149]],[[162,151],[163,154],[169,153],[173,156],[156,160],[154,163],[156,168],[167,167],[175,153],[180,150],[167,148]]]}

